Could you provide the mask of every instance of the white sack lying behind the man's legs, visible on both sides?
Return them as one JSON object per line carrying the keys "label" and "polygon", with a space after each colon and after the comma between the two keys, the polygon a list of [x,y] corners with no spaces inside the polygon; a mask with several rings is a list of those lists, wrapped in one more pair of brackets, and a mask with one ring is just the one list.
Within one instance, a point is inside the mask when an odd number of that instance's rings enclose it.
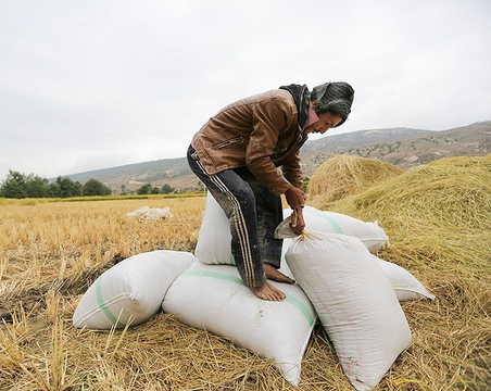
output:
{"label": "white sack lying behind the man's legs, visible on both sides", "polygon": [[[290,214],[291,210],[284,211],[286,218]],[[303,215],[309,231],[353,236],[358,238],[372,252],[382,250],[388,242],[385,230],[377,223],[365,223],[339,213],[318,211],[312,206],[305,206]],[[284,224],[288,225],[287,222]],[[206,264],[234,265],[230,241],[228,218],[209,192],[194,254]],[[288,245],[289,241],[286,241],[285,251]]]}

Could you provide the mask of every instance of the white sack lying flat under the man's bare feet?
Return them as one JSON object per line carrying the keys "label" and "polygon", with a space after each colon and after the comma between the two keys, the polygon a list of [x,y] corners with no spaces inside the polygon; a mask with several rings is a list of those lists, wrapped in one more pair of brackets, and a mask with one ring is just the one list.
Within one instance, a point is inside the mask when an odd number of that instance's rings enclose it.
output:
{"label": "white sack lying flat under the man's bare feet", "polygon": [[286,293],[285,300],[256,298],[235,266],[196,262],[171,286],[162,308],[186,325],[275,358],[284,377],[297,386],[317,316],[298,285],[270,282]]}

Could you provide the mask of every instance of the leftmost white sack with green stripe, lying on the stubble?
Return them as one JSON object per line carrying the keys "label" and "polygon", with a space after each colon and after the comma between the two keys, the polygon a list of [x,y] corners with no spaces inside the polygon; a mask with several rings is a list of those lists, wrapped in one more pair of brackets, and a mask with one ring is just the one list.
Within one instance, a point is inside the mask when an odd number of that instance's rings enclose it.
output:
{"label": "leftmost white sack with green stripe, lying on the stubble", "polygon": [[161,310],[171,283],[196,256],[159,250],[130,256],[105,270],[89,287],[75,310],[75,327],[110,329],[138,325]]}

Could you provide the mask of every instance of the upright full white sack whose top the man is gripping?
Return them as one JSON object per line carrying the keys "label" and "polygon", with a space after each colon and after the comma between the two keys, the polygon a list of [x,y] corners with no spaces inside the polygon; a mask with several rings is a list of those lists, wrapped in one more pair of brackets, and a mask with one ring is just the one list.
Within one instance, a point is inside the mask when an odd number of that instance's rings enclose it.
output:
{"label": "upright full white sack whose top the man is gripping", "polygon": [[410,326],[388,277],[357,238],[297,238],[287,263],[314,305],[356,390],[372,390],[410,346]]}

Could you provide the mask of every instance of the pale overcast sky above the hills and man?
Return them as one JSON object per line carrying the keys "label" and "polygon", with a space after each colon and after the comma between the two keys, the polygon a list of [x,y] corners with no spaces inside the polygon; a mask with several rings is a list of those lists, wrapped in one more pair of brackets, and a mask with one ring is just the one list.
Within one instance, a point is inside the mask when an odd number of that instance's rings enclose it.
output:
{"label": "pale overcast sky above the hills and man", "polygon": [[348,81],[336,133],[491,119],[489,0],[0,0],[0,181],[184,157],[224,105]]}

